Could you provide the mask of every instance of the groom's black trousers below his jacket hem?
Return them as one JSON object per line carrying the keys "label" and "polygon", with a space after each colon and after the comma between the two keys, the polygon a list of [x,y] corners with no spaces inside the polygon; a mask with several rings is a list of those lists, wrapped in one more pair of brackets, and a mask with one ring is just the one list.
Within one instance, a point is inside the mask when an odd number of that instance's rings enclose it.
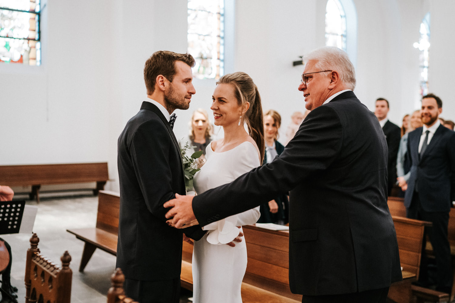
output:
{"label": "groom's black trousers below his jacket hem", "polygon": [[126,296],[140,303],[179,303],[180,277],[164,281],[125,279]]}

